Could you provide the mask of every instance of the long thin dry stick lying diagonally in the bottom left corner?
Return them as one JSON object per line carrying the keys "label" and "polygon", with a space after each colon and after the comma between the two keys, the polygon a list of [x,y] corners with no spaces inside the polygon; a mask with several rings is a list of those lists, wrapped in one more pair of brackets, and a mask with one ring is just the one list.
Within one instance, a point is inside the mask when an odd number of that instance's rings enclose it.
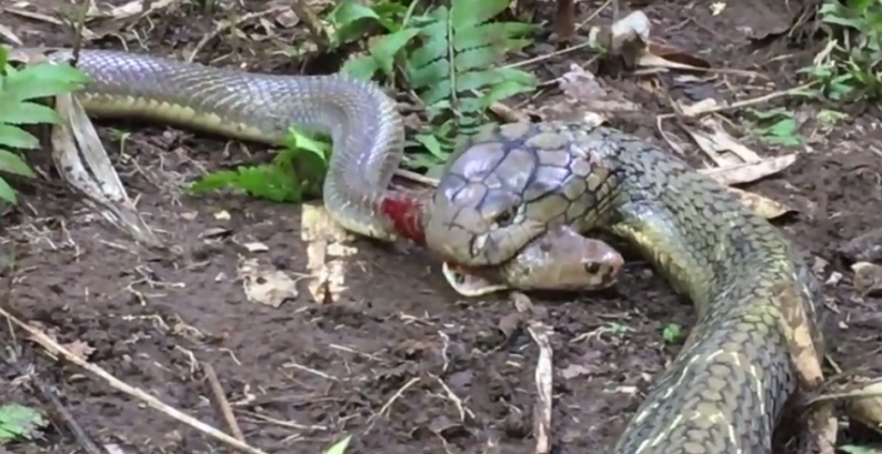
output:
{"label": "long thin dry stick lying diagonally in the bottom left corner", "polygon": [[27,331],[28,334],[31,335],[31,339],[34,342],[40,344],[40,346],[42,346],[43,349],[46,349],[50,353],[57,354],[57,355],[61,355],[66,360],[70,361],[71,363],[77,364],[78,366],[80,366],[82,369],[86,369],[87,371],[98,375],[99,377],[101,377],[106,382],[108,382],[108,384],[110,384],[112,387],[114,387],[114,389],[117,389],[117,390],[119,390],[119,391],[121,391],[121,392],[123,392],[123,393],[126,393],[126,394],[128,394],[128,395],[130,395],[132,397],[136,397],[136,398],[139,398],[139,400],[143,401],[149,406],[151,406],[151,407],[153,407],[156,410],[159,410],[160,412],[173,417],[174,420],[178,420],[179,422],[181,422],[183,424],[187,424],[190,427],[193,427],[197,431],[202,432],[206,435],[208,435],[208,436],[210,436],[210,437],[212,437],[212,438],[214,438],[214,440],[217,440],[217,441],[219,441],[221,443],[224,443],[227,445],[230,445],[230,446],[232,446],[232,447],[234,447],[237,450],[241,450],[241,451],[243,451],[245,453],[249,453],[249,454],[267,454],[263,451],[260,451],[260,450],[258,450],[255,447],[251,447],[248,444],[245,444],[243,442],[240,442],[240,441],[231,437],[230,435],[227,435],[223,432],[221,432],[221,431],[219,431],[219,430],[217,430],[217,428],[214,428],[214,427],[212,427],[212,426],[210,426],[210,425],[208,425],[208,424],[206,424],[206,423],[203,423],[203,422],[201,422],[201,421],[199,421],[199,420],[197,420],[197,418],[194,418],[194,417],[192,417],[192,416],[190,416],[190,415],[188,415],[188,414],[186,414],[186,413],[183,413],[183,412],[181,412],[181,411],[179,411],[177,408],[164,404],[159,398],[153,397],[152,395],[143,392],[142,390],[139,390],[137,387],[133,387],[133,386],[130,386],[130,385],[126,384],[121,380],[119,380],[116,376],[109,374],[103,369],[101,369],[101,367],[99,367],[99,366],[97,366],[94,364],[90,364],[86,360],[74,355],[69,350],[64,349],[63,346],[59,345],[56,341],[53,341],[49,336],[47,336],[42,331],[40,331],[40,330],[38,330],[38,329],[33,327],[33,326],[30,326],[29,324],[20,321],[19,319],[17,319],[16,316],[10,314],[9,312],[7,312],[2,307],[0,307],[0,315],[6,316],[8,320],[11,320],[12,323],[18,325],[22,330]]}

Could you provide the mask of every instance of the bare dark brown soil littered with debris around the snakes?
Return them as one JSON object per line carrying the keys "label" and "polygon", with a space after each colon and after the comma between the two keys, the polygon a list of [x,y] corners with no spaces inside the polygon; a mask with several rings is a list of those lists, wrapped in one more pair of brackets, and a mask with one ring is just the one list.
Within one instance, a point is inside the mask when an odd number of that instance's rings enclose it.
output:
{"label": "bare dark brown soil littered with debris around the snakes", "polygon": [[[244,9],[212,14],[174,3],[128,29],[104,31],[89,46],[126,42],[132,50],[181,57],[232,14],[268,7],[241,3]],[[581,17],[593,9],[581,8]],[[730,4],[712,16],[710,2],[647,8],[658,38],[686,52],[729,68],[786,72],[752,67],[763,58],[744,47],[751,18],[768,27],[768,12]],[[302,72],[280,51],[304,42],[303,28],[275,24],[271,33],[265,26],[272,16],[261,20],[209,39],[198,60]],[[27,44],[71,42],[60,26],[34,17],[4,12],[0,26]],[[136,34],[140,42],[130,39]],[[545,69],[554,72],[590,56],[565,58],[544,63]],[[623,93],[635,90],[628,78],[605,83]],[[655,110],[647,104],[647,111]],[[654,114],[644,115],[629,121],[642,124],[634,129],[648,125],[645,134],[657,138]],[[539,350],[524,330],[507,335],[514,309],[504,296],[462,301],[438,263],[422,253],[358,241],[341,301],[312,302],[302,280],[300,295],[281,306],[250,302],[237,279],[243,260],[257,259],[291,276],[304,272],[300,206],[189,196],[181,182],[264,150],[156,125],[102,125],[100,132],[147,221],[180,255],[143,253],[58,183],[26,188],[22,209],[7,214],[0,231],[2,254],[14,258],[3,270],[3,307],[88,353],[89,361],[127,384],[229,432],[207,375],[210,366],[245,440],[267,452],[317,453],[342,434],[353,435],[353,453],[533,452]],[[851,119],[804,150],[783,173],[744,189],[799,211],[781,228],[822,281],[842,275],[825,289],[826,303],[840,316],[830,353],[846,370],[878,375],[880,301],[855,289],[850,259],[839,252],[882,225],[878,123]],[[255,242],[268,251],[247,246]],[[679,344],[662,341],[663,329],[688,329],[693,310],[640,262],[629,264],[612,291],[533,303],[548,311],[547,322],[555,330],[554,452],[608,452],[642,398],[640,391],[679,351]],[[16,364],[0,365],[8,383],[0,402],[46,408],[56,424],[43,440],[22,443],[16,452],[77,450],[60,424],[59,406],[47,403],[38,384],[53,390],[61,407],[97,443],[139,453],[230,452],[80,367],[50,359],[21,330],[13,333],[4,323],[0,332],[6,355],[13,350],[19,355]]]}

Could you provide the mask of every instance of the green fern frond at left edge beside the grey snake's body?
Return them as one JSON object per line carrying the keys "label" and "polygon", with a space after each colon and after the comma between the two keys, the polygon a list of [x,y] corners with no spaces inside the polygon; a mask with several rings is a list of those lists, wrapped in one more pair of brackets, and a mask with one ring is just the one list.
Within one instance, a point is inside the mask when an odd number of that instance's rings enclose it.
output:
{"label": "green fern frond at left edge beside the grey snake's body", "polygon": [[8,64],[7,50],[0,47],[0,199],[18,203],[16,191],[2,173],[34,178],[20,153],[12,150],[34,150],[39,140],[20,127],[57,123],[54,110],[33,102],[81,88],[89,79],[67,63],[39,63],[17,70]]}

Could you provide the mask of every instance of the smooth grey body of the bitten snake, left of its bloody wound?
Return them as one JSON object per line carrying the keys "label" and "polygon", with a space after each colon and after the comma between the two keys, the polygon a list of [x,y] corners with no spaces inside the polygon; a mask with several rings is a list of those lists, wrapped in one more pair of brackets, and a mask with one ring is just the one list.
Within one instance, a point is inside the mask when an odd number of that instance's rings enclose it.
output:
{"label": "smooth grey body of the bitten snake, left of its bloody wound", "polygon": [[[51,59],[69,61],[61,50]],[[404,125],[383,91],[338,75],[284,77],[120,51],[84,50],[90,114],[141,117],[225,137],[280,145],[292,125],[331,135],[324,180],[328,210],[345,229],[380,240],[395,236],[378,216],[404,153]]]}

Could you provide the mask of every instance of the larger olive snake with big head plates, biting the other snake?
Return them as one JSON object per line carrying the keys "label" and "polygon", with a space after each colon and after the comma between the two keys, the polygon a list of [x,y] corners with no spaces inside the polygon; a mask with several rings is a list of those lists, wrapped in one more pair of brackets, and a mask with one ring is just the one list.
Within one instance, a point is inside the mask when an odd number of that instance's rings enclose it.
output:
{"label": "larger olive snake with big head plates, biting the other snake", "polygon": [[692,300],[699,321],[615,454],[770,454],[796,387],[785,304],[802,305],[823,353],[820,285],[788,240],[719,183],[611,129],[483,131],[447,167],[425,222],[429,248],[473,266],[504,263],[545,229],[608,230]]}

